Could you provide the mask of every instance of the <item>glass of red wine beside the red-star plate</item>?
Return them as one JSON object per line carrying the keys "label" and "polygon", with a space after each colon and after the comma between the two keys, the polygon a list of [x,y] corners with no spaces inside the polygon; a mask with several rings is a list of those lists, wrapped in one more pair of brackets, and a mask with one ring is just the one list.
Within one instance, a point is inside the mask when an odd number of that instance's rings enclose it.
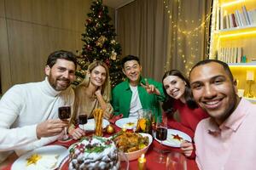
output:
{"label": "glass of red wine beside the red-star plate", "polygon": [[[162,141],[167,139],[167,119],[166,115],[163,113],[162,116],[157,116],[156,118],[156,130],[155,130],[155,138],[160,140],[160,144],[162,145]],[[165,163],[165,156],[160,150],[160,156],[156,159],[158,163]]]}

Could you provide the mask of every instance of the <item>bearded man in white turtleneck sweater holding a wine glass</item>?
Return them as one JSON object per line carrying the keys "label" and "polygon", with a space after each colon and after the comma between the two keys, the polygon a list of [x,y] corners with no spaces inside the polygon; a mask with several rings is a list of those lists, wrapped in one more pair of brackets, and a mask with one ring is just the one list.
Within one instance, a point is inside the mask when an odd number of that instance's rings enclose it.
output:
{"label": "bearded man in white turtleneck sweater holding a wine glass", "polygon": [[14,151],[19,156],[55,141],[67,127],[58,108],[71,105],[76,56],[60,50],[49,54],[45,80],[15,85],[0,100],[0,163]]}

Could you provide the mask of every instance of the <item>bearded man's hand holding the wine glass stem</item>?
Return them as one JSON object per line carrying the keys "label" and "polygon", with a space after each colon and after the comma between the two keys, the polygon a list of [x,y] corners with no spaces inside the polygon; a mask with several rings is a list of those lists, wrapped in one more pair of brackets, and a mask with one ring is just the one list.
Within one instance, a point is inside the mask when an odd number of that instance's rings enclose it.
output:
{"label": "bearded man's hand holding the wine glass stem", "polygon": [[50,137],[60,134],[64,127],[68,126],[68,120],[60,119],[49,119],[47,121],[41,122],[37,126],[38,139],[42,137]]}

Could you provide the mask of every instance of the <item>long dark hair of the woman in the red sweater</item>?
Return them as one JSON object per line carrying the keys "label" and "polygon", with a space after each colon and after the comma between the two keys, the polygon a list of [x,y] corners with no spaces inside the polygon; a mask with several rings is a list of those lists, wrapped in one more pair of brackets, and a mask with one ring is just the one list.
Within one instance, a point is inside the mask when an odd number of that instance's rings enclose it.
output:
{"label": "long dark hair of the woman in the red sweater", "polygon": [[[193,95],[191,92],[189,80],[183,76],[183,73],[181,71],[177,71],[177,70],[166,71],[165,75],[162,78],[162,82],[168,76],[176,76],[176,77],[181,78],[184,82],[186,82],[186,87],[185,87],[185,92],[184,92],[184,99],[186,101],[186,104],[189,106],[190,109],[198,108],[198,105],[195,103],[195,99],[193,98]],[[166,100],[163,102],[163,105],[162,105],[163,110],[164,111],[174,111],[173,102],[175,99],[173,99],[166,93],[166,88],[164,87],[164,84],[163,84],[163,90],[164,90],[164,93],[166,94]]]}

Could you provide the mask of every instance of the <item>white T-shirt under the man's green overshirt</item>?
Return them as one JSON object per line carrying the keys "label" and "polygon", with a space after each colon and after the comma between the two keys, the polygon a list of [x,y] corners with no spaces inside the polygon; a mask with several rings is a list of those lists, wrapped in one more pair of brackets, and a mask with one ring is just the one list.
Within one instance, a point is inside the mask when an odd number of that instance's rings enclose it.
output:
{"label": "white T-shirt under the man's green overshirt", "polygon": [[132,92],[132,96],[131,96],[131,104],[130,104],[130,114],[129,117],[131,116],[138,116],[137,111],[141,110],[143,108],[141,100],[139,98],[138,92],[137,92],[137,86],[131,86],[131,92]]}

